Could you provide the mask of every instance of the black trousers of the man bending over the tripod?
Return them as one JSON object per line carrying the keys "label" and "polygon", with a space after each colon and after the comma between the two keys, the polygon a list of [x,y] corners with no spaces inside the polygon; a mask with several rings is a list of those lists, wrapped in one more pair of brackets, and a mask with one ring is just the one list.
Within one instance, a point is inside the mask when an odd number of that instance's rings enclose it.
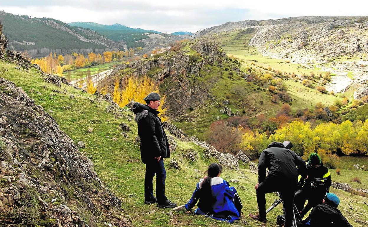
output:
{"label": "black trousers of the man bending over the tripod", "polygon": [[266,218],[266,194],[279,192],[282,196],[285,209],[285,227],[291,227],[293,222],[293,201],[296,182],[263,181],[256,189],[259,217]]}

